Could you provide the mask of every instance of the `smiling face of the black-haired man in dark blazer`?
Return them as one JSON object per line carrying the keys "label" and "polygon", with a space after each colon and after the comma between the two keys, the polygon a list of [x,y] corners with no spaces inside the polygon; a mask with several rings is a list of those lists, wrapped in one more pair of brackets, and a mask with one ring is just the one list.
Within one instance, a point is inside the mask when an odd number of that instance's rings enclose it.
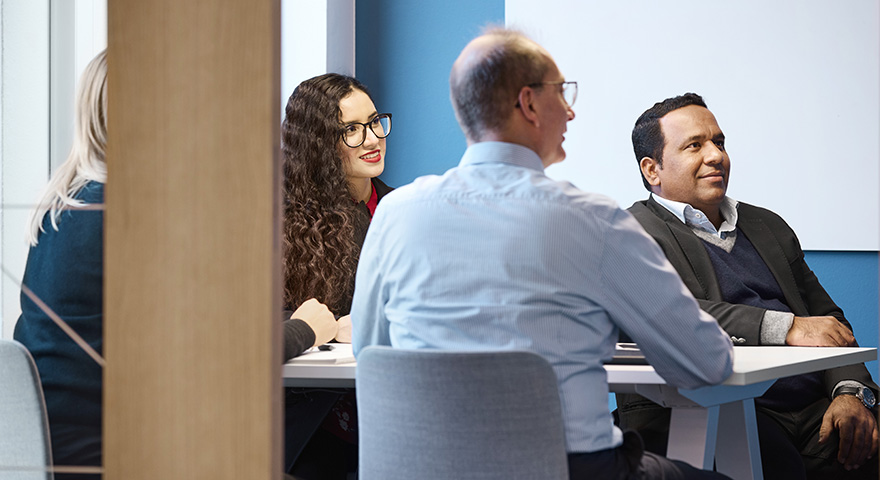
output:
{"label": "smiling face of the black-haired man in dark blazer", "polygon": [[645,157],[642,173],[655,194],[688,203],[710,218],[718,214],[730,177],[724,133],[705,107],[688,105],[660,119],[662,164]]}

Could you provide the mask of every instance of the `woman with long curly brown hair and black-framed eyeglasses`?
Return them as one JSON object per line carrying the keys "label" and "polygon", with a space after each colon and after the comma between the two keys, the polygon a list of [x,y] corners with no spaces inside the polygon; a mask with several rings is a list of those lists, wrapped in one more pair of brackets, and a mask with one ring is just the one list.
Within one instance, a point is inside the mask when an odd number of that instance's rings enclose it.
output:
{"label": "woman with long curly brown hair and black-framed eyeglasses", "polygon": [[[343,317],[341,341],[350,341],[346,321],[361,245],[376,204],[391,191],[376,178],[390,132],[391,114],[376,109],[367,88],[334,73],[302,82],[281,125],[285,305],[310,298],[326,304]],[[286,422],[287,467],[298,478],[345,478],[345,457],[348,470],[356,466],[351,393],[289,390]]]}

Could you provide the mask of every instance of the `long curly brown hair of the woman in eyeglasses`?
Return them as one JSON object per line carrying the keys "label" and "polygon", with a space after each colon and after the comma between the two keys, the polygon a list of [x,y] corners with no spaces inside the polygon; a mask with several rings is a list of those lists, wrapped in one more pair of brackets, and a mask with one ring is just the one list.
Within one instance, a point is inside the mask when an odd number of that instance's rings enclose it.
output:
{"label": "long curly brown hair of the woman in eyeglasses", "polygon": [[287,101],[281,153],[288,308],[314,297],[336,315],[351,310],[359,215],[339,153],[339,102],[354,90],[370,96],[357,79],[328,73],[300,83]]}

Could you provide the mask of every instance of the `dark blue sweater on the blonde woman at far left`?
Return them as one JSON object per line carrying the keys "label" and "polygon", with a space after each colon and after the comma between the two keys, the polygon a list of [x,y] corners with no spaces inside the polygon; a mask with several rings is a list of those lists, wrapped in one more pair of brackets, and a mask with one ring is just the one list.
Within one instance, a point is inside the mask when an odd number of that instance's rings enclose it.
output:
{"label": "dark blue sweater on the blonde woman at far left", "polygon": [[[102,204],[104,185],[90,182],[77,198]],[[23,279],[98,353],[103,347],[103,224],[100,210],[65,210],[55,231],[47,214]],[[30,350],[40,372],[54,463],[100,465],[101,367],[24,293],[21,310],[14,338]]]}

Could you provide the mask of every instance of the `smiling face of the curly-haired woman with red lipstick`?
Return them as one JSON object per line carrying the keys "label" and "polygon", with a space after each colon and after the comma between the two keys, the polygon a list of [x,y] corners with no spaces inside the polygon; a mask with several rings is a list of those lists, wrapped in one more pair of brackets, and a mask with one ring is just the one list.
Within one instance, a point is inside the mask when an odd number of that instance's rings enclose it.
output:
{"label": "smiling face of the curly-haired woman with red lipstick", "polygon": [[[357,89],[352,90],[350,94],[339,101],[339,109],[341,111],[340,122],[343,126],[352,122],[369,123],[378,113],[370,97]],[[385,139],[376,137],[370,128],[366,129],[366,134],[364,143],[359,147],[349,147],[341,137],[338,144],[339,154],[345,166],[345,176],[352,189],[352,195],[356,199],[360,199],[364,188],[369,186],[370,179],[378,177],[385,170]],[[369,190],[367,196],[369,196]]]}

